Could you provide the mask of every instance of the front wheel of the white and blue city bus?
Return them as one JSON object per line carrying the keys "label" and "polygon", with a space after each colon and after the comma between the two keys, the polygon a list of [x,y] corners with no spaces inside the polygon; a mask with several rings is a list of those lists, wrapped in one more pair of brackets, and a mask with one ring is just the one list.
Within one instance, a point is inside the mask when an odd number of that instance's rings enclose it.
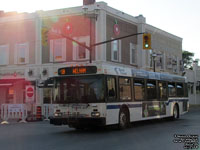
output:
{"label": "front wheel of the white and blue city bus", "polygon": [[125,129],[129,126],[129,115],[126,109],[122,109],[119,113],[119,129]]}

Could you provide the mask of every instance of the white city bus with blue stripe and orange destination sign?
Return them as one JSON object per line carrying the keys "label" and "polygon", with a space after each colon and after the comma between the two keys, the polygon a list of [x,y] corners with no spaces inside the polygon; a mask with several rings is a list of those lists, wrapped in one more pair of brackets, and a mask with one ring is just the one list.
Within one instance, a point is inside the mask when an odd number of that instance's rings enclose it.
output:
{"label": "white city bus with blue stripe and orange destination sign", "polygon": [[88,64],[58,69],[53,81],[50,123],[76,129],[171,117],[188,112],[185,77],[120,64]]}

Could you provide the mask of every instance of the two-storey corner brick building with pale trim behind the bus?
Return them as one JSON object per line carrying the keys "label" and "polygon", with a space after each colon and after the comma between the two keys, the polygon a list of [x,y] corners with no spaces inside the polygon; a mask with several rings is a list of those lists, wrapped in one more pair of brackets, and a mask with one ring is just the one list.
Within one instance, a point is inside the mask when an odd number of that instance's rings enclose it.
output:
{"label": "two-storey corner brick building with pale trim behind the bus", "polygon": [[142,35],[116,40],[93,48],[92,62],[117,63],[133,68],[182,74],[182,39],[128,15],[104,2],[74,8],[0,13],[0,104],[30,103],[26,86],[34,87],[31,104],[51,104],[51,88],[40,83],[57,75],[66,65],[89,63],[90,52],[66,36],[90,46],[133,33],[152,34],[152,50],[142,47]]}

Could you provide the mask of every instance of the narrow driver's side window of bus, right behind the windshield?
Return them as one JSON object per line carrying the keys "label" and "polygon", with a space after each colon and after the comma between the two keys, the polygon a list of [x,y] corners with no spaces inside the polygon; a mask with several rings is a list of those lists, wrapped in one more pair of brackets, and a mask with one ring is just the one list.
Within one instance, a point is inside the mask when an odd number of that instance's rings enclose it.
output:
{"label": "narrow driver's side window of bus, right behind the windshield", "polygon": [[107,78],[107,95],[109,100],[114,100],[116,98],[116,85],[115,78]]}

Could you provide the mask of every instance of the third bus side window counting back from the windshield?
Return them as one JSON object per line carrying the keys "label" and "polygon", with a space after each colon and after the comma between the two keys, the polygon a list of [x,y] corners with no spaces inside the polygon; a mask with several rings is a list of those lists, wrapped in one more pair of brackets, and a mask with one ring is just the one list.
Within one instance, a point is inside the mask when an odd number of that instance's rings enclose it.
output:
{"label": "third bus side window counting back from the windshield", "polygon": [[134,95],[136,101],[144,100],[144,80],[134,80]]}

